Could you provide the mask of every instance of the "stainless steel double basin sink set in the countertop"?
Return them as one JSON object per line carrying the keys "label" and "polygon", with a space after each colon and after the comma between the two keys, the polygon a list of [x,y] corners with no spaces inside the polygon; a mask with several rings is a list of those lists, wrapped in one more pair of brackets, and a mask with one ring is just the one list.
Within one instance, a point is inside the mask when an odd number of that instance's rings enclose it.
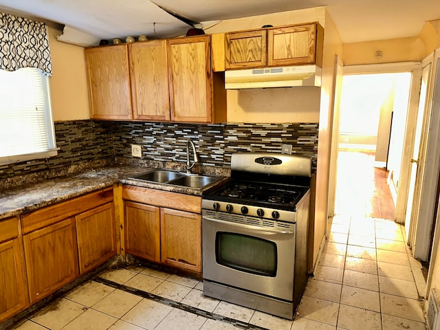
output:
{"label": "stainless steel double basin sink set in the countertop", "polygon": [[223,179],[223,177],[216,175],[186,174],[176,172],[175,170],[157,169],[151,170],[147,173],[142,173],[140,175],[135,175],[130,177],[130,179],[159,184],[171,184],[173,186],[193,189],[202,189],[210,186],[210,184],[214,184],[220,179]]}

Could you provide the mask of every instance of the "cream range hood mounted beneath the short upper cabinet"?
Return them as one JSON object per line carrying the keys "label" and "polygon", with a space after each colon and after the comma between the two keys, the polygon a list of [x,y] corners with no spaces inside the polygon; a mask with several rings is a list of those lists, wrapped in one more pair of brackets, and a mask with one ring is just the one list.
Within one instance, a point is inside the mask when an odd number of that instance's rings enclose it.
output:
{"label": "cream range hood mounted beneath the short upper cabinet", "polygon": [[267,67],[225,72],[226,89],[321,86],[322,69],[316,65]]}

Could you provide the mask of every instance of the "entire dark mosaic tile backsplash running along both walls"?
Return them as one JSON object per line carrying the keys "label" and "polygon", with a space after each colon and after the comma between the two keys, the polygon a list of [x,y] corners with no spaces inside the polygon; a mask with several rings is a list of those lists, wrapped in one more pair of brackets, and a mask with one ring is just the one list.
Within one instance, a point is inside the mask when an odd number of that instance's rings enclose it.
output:
{"label": "entire dark mosaic tile backsplash running along both walls", "polygon": [[318,123],[294,124],[177,124],[72,120],[55,123],[58,156],[0,166],[0,179],[39,174],[78,166],[132,158],[131,144],[142,146],[142,159],[186,162],[186,140],[191,139],[204,165],[230,166],[234,152],[293,153],[312,158],[316,173]]}

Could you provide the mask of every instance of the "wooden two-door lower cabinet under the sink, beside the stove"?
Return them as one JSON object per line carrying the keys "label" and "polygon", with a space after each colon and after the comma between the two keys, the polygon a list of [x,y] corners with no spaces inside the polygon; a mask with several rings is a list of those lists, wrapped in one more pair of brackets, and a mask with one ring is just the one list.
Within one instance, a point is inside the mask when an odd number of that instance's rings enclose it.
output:
{"label": "wooden two-door lower cabinet under the sink, beside the stove", "polygon": [[201,274],[201,197],[124,185],[126,252]]}

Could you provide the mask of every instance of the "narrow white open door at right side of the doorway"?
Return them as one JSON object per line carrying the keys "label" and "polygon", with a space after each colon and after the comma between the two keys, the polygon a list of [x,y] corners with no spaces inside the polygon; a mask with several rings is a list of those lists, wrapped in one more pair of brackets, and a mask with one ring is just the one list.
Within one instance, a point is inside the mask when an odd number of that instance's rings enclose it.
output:
{"label": "narrow white open door at right side of the doorway", "polygon": [[[406,202],[406,217],[405,217],[405,232],[406,232],[406,241],[410,244],[413,240],[413,235],[410,236],[410,232],[414,233],[414,230],[410,230],[411,226],[414,225],[411,221],[411,213],[413,200],[415,199],[415,182],[417,176],[417,164],[419,159],[419,151],[420,151],[420,141],[421,141],[421,128],[423,124],[423,113],[425,110],[426,104],[426,96],[428,93],[428,83],[430,80],[430,72],[431,72],[431,63],[428,63],[425,67],[423,67],[423,72],[421,76],[421,87],[420,87],[420,97],[419,97],[419,107],[417,110],[416,124],[415,124],[415,133],[414,133],[414,148],[412,150],[412,156],[410,159],[410,180],[408,187],[408,198]],[[417,201],[417,199],[416,199]],[[414,205],[417,207],[417,205]]]}

